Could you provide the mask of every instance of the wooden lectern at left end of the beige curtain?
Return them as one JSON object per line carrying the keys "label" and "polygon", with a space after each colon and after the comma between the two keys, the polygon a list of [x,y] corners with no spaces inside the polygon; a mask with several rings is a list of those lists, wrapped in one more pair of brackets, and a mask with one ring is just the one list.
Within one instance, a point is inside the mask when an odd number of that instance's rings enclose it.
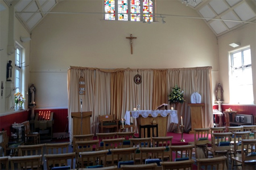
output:
{"label": "wooden lectern at left end of the beige curtain", "polygon": [[90,117],[92,112],[73,112],[73,135],[90,134]]}

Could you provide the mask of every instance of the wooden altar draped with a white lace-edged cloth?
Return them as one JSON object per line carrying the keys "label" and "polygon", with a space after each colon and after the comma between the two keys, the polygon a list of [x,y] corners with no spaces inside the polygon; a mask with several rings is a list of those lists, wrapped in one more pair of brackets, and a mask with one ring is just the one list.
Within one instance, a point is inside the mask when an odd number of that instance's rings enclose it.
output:
{"label": "wooden altar draped with a white lace-edged cloth", "polygon": [[158,136],[166,137],[168,120],[171,123],[178,123],[177,111],[164,110],[164,111],[126,111],[125,120],[126,124],[130,125],[130,116],[137,119],[137,126],[158,124]]}

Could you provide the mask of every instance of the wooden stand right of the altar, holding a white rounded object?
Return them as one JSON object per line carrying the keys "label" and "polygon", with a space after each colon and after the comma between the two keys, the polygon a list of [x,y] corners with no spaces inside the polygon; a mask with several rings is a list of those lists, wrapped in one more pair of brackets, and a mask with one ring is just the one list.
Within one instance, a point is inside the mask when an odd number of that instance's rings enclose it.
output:
{"label": "wooden stand right of the altar, holding a white rounded object", "polygon": [[194,134],[195,128],[203,128],[202,119],[204,115],[202,108],[204,103],[189,103],[188,105],[191,108],[191,131],[189,131],[189,134]]}

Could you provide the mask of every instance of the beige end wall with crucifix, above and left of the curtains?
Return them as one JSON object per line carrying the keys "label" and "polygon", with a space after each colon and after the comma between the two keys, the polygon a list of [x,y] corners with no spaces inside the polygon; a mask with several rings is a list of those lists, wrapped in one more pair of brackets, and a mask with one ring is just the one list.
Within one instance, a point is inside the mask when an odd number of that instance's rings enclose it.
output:
{"label": "beige end wall with crucifix, above and left of the curtains", "polygon": [[[53,11],[102,12],[103,1],[60,2]],[[198,14],[176,1],[157,1],[158,14]],[[31,83],[38,107],[67,107],[68,66],[180,68],[218,71],[217,39],[203,20],[166,17],[156,23],[102,20],[102,14],[48,14],[32,31]],[[127,36],[137,37],[130,54]],[[38,97],[40,96],[40,97]]]}

